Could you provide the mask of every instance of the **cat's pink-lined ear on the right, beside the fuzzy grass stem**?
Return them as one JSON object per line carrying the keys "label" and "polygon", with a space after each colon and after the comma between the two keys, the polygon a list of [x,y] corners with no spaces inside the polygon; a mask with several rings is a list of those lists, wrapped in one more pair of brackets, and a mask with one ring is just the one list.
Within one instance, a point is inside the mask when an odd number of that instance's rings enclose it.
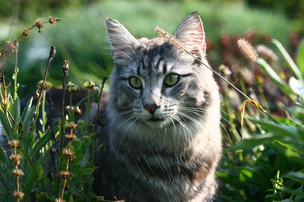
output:
{"label": "cat's pink-lined ear on the right, beside the fuzzy grass stem", "polygon": [[205,55],[205,32],[202,20],[197,12],[185,16],[175,31],[174,36],[178,38],[186,50],[193,55]]}

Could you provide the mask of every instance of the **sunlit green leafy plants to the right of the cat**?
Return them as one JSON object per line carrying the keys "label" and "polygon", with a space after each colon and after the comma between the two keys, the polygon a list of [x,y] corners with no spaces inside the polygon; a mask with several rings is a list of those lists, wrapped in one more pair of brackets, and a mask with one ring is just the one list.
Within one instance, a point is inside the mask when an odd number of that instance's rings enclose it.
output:
{"label": "sunlit green leafy plants to the right of the cat", "polygon": [[[246,117],[243,134],[240,134],[240,128],[237,127],[239,120],[230,116],[229,121],[234,124],[229,129],[229,135],[233,135],[230,141],[235,144],[224,150],[222,171],[217,174],[222,181],[219,193],[221,201],[304,199],[304,45],[302,41],[296,65],[277,40],[273,39],[272,42],[286,62],[285,71],[289,70],[290,74],[293,74],[289,82],[285,82],[264,59],[257,58],[256,64],[281,89],[285,99],[275,104],[279,105],[286,115],[264,117],[258,113],[260,105],[251,103],[256,110],[247,108],[243,111]],[[267,105],[263,94],[259,94],[258,98],[258,102]],[[224,106],[225,104],[226,102]],[[229,105],[223,107],[223,111],[229,113],[228,107]],[[241,135],[244,135],[244,140],[240,140]]]}

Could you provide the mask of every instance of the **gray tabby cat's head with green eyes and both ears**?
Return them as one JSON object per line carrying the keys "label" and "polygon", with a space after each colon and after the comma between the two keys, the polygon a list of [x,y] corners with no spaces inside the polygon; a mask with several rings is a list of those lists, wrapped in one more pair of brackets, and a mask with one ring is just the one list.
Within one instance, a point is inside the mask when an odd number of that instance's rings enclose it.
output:
{"label": "gray tabby cat's head with green eyes and both ears", "polygon": [[[115,111],[116,116],[152,127],[177,122],[187,125],[190,121],[203,121],[206,108],[219,104],[212,72],[184,50],[164,38],[135,39],[110,18],[106,26],[115,64],[109,110]],[[205,33],[196,12],[185,16],[174,36],[208,65]]]}

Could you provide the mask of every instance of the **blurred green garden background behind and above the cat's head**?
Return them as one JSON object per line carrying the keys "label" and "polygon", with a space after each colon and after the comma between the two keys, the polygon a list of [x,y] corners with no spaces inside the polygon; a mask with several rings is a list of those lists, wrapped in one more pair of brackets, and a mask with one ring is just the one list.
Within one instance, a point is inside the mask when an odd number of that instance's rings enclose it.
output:
{"label": "blurred green garden background behind and above the cat's head", "polygon": [[[62,19],[55,26],[45,24],[41,33],[37,28],[32,29],[28,37],[19,41],[19,96],[36,91],[37,81],[43,79],[50,46],[55,46],[57,51],[47,78],[53,85],[61,85],[64,60],[71,62],[67,81],[82,86],[87,80],[99,84],[102,77],[109,78],[112,61],[106,17],[117,19],[136,38],[153,38],[155,27],[174,33],[185,15],[199,12],[212,67],[228,66],[232,70],[231,81],[235,83],[239,71],[254,70],[247,68],[246,60],[239,54],[237,39],[242,37],[253,45],[271,46],[270,39],[276,38],[294,55],[304,33],[304,1],[301,0],[0,0],[0,5],[1,46],[6,40],[16,40],[38,18]],[[1,62],[8,82],[13,71],[13,55]],[[246,75],[246,82],[255,79],[254,75]]]}

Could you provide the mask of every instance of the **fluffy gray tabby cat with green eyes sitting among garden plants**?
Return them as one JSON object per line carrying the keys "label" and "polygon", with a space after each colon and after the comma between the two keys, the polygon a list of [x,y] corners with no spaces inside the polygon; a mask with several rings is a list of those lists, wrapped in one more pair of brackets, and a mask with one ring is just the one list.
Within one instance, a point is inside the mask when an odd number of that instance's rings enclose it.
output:
{"label": "fluffy gray tabby cat with green eyes sitting among garden plants", "polygon": [[[137,40],[111,18],[106,26],[115,67],[95,193],[132,202],[212,201],[221,156],[212,71],[164,38]],[[174,36],[208,64],[196,12]]]}

